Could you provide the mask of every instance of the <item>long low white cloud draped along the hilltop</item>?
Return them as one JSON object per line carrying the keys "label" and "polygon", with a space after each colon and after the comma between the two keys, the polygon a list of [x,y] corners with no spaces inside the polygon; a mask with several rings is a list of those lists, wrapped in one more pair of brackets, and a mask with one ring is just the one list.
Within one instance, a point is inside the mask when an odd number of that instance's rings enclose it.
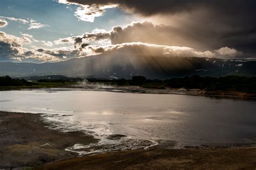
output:
{"label": "long low white cloud draped along the hilltop", "polygon": [[118,53],[119,55],[134,55],[138,57],[157,56],[221,59],[232,59],[234,57],[239,58],[239,56],[243,56],[242,52],[228,47],[223,47],[214,51],[197,51],[196,49],[190,47],[155,45],[146,44],[143,42],[128,42],[109,46],[89,45],[84,48],[84,50],[91,55],[101,53]]}

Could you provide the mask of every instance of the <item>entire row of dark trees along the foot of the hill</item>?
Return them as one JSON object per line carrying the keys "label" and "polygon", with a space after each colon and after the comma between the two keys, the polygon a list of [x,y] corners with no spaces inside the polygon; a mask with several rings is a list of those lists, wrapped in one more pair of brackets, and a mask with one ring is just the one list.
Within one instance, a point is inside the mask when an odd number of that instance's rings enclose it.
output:
{"label": "entire row of dark trees along the foot of the hill", "polygon": [[[49,80],[41,79],[37,82],[77,82],[82,78],[69,77],[69,79]],[[256,77],[245,76],[225,76],[225,77],[201,77],[193,75],[191,77],[172,78],[167,80],[150,80],[144,76],[133,76],[131,80],[126,79],[87,79],[89,82],[101,82],[116,84],[118,86],[140,86],[143,88],[165,89],[165,88],[186,88],[186,89],[205,89],[207,91],[232,90],[246,93],[256,93]],[[3,86],[32,86],[36,84],[24,79],[12,79],[10,76],[0,77],[0,87]]]}

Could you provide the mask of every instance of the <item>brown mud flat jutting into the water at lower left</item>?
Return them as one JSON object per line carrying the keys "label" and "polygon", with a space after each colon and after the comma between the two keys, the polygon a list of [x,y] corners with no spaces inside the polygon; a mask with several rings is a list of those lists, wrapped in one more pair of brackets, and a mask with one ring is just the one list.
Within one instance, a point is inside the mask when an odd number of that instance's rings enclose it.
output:
{"label": "brown mud flat jutting into the water at lower left", "polygon": [[39,114],[0,111],[0,169],[75,158],[77,154],[65,151],[66,147],[97,142],[83,132],[62,133],[48,125]]}

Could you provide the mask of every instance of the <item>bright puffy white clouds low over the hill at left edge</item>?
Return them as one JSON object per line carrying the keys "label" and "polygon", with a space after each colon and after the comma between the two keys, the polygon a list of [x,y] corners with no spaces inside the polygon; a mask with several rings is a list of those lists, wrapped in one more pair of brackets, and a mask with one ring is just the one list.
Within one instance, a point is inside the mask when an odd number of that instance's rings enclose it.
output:
{"label": "bright puffy white clouds low over the hill at left edge", "polygon": [[[23,47],[25,44],[30,44],[33,36],[30,34],[22,34],[22,37],[12,36],[0,31],[0,56],[1,58],[14,59],[23,61],[26,59],[38,60],[43,62],[62,61],[63,56],[73,58],[74,56],[86,55],[86,53],[70,47],[62,48],[37,48],[31,46],[32,49]],[[51,45],[52,42],[44,41],[45,44]]]}

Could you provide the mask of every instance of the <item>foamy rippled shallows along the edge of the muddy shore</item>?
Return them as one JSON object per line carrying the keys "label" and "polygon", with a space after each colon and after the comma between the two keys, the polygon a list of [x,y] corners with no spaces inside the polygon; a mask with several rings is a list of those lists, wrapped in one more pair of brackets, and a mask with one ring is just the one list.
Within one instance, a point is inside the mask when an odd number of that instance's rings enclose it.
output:
{"label": "foamy rippled shallows along the edge of the muddy shore", "polygon": [[[50,129],[71,132],[71,131],[83,131],[96,139],[99,139],[98,143],[90,145],[75,144],[66,148],[66,151],[76,152],[79,155],[88,154],[100,154],[113,151],[124,150],[136,150],[139,148],[161,147],[164,143],[158,139],[136,139],[132,138],[129,134],[104,134],[100,132],[106,132],[108,129],[106,126],[98,124],[79,124],[77,122],[67,123],[68,115],[61,114],[44,114],[42,115],[46,122],[51,122]],[[167,140],[166,140],[166,143]],[[172,141],[173,143],[173,141]],[[169,143],[170,144],[170,143]],[[163,145],[164,146],[164,145]],[[169,145],[170,146],[170,145]],[[171,145],[172,146],[172,145]]]}

